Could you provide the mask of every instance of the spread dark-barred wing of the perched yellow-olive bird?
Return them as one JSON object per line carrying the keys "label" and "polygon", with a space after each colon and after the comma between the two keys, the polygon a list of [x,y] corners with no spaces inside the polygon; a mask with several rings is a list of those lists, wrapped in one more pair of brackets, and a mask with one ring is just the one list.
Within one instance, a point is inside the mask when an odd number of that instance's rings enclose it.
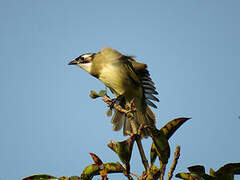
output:
{"label": "spread dark-barred wing of the perched yellow-olive bird", "polygon": [[[159,102],[159,99],[156,98],[154,95],[157,95],[158,92],[154,86],[154,82],[152,81],[149,71],[147,70],[147,65],[144,63],[136,62],[134,59],[131,59],[132,66],[139,77],[145,95],[145,101],[149,106],[157,108],[157,106],[152,101]],[[151,101],[152,100],[152,101]]]}

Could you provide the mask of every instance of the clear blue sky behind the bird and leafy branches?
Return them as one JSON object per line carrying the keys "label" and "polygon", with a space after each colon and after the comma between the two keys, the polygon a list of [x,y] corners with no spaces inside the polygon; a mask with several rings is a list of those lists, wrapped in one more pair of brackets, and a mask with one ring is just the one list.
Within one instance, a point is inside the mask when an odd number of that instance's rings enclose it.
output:
{"label": "clear blue sky behind the bird and leafy branches", "polygon": [[[88,96],[104,85],[67,65],[104,46],[148,64],[158,127],[192,117],[170,140],[182,148],[175,173],[239,162],[239,9],[238,0],[1,0],[0,179],[80,175],[89,152],[119,161],[106,144],[122,132]],[[131,162],[144,169],[136,145]]]}

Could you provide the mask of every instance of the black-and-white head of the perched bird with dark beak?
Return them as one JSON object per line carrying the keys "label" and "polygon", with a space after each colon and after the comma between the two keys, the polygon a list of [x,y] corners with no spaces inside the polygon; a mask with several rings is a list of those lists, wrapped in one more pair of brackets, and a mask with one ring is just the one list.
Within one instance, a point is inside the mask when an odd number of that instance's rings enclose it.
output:
{"label": "black-and-white head of the perched bird with dark beak", "polygon": [[69,62],[68,65],[77,65],[82,69],[84,69],[85,71],[87,71],[88,73],[90,73],[94,56],[95,56],[95,53],[83,54],[77,57],[76,59],[74,59],[73,61]]}

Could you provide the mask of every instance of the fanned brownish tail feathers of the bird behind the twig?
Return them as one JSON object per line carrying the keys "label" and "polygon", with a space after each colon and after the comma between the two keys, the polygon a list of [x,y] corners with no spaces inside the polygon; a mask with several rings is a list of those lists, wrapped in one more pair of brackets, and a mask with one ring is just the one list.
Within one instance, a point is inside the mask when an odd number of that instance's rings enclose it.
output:
{"label": "fanned brownish tail feathers of the bird behind the twig", "polygon": [[[124,113],[115,110],[111,123],[113,124],[114,131],[119,131],[123,127],[124,136],[134,133],[132,124]],[[138,131],[141,124],[155,126],[156,118],[152,110],[147,106],[145,112],[136,109],[133,123]],[[147,138],[148,136],[148,131],[143,128],[141,130],[141,137]]]}

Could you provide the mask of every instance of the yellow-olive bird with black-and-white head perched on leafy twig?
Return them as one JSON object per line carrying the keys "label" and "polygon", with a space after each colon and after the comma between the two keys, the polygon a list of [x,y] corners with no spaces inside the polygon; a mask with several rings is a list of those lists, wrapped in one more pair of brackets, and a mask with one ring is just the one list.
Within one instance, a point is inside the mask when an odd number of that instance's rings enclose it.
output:
{"label": "yellow-olive bird with black-and-white head perched on leafy twig", "polygon": [[[137,62],[134,56],[123,55],[111,47],[104,47],[97,53],[86,53],[69,62],[77,65],[99,79],[116,96],[116,103],[124,108],[133,100],[136,112],[134,123],[137,130],[144,125],[155,127],[156,117],[149,106],[159,102],[155,84],[150,77],[147,64]],[[133,133],[126,114],[114,110],[111,119],[113,130],[123,128],[123,135]],[[141,137],[147,138],[147,129],[141,128]]]}

